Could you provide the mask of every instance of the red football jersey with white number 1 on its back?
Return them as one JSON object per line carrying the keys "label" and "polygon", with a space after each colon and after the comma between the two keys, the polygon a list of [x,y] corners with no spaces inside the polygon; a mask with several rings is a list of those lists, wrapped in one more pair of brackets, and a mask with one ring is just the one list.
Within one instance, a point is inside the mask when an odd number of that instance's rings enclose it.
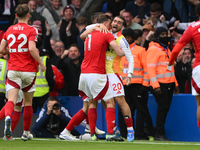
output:
{"label": "red football jersey with white number 1 on its back", "polygon": [[84,60],[81,73],[106,74],[106,50],[111,41],[115,40],[111,33],[94,31],[85,40]]}

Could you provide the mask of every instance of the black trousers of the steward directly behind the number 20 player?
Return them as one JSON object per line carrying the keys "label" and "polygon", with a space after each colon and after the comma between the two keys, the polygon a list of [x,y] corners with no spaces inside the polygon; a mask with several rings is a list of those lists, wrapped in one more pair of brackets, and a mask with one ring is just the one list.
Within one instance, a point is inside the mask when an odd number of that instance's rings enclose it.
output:
{"label": "black trousers of the steward directly behind the number 20 player", "polygon": [[[135,136],[138,138],[145,136],[144,122],[146,123],[148,134],[149,135],[153,134],[154,131],[153,123],[147,107],[147,101],[148,101],[147,88],[145,88],[142,84],[131,84],[129,86],[124,86],[124,90],[125,90],[125,100],[131,109],[133,122],[134,122],[135,110],[137,109],[136,126],[134,127]],[[126,138],[127,127],[120,108],[118,116],[119,116],[119,127],[121,136]]]}

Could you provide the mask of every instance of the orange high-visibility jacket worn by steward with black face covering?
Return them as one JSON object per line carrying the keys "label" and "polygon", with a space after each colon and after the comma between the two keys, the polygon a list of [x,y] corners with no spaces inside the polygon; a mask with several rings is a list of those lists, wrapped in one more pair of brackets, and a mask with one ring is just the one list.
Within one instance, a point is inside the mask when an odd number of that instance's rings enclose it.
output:
{"label": "orange high-visibility jacket worn by steward with black face covering", "polygon": [[149,43],[147,50],[147,73],[153,89],[160,87],[159,83],[175,82],[176,86],[178,86],[174,66],[167,65],[170,57],[171,52],[168,48],[164,48],[156,42]]}

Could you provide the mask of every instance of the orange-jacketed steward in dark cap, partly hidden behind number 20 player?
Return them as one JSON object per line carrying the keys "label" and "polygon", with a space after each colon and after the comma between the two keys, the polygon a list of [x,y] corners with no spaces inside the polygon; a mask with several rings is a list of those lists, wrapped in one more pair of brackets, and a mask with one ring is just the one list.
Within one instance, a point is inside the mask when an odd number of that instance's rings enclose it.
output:
{"label": "orange-jacketed steward in dark cap, partly hidden behind number 20 player", "polygon": [[[131,84],[129,86],[125,85],[125,79],[128,75],[128,61],[126,60],[126,57],[123,57],[121,60],[123,68],[121,76],[124,84],[125,99],[131,108],[132,116],[134,116],[135,109],[137,109],[135,138],[138,140],[146,140],[147,137],[144,133],[144,122],[147,125],[148,135],[154,135],[153,123],[147,107],[148,90],[144,88],[144,86],[147,87],[149,85],[149,79],[146,72],[146,49],[138,46],[133,40],[129,40],[131,37],[135,40],[140,37],[134,34],[132,29],[124,29],[123,34],[130,44],[129,47],[134,58],[134,70],[131,76]],[[141,92],[143,89],[146,90],[146,93]],[[123,132],[121,126],[123,125],[120,125],[120,131]]]}

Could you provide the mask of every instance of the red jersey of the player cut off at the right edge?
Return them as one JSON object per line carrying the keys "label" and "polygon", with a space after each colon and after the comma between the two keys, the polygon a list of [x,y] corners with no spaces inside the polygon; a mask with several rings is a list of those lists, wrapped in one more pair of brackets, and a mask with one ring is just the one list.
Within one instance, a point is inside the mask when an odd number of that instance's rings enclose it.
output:
{"label": "red jersey of the player cut off at the right edge", "polygon": [[191,24],[183,33],[179,43],[185,45],[192,41],[195,47],[195,62],[193,68],[200,64],[200,21]]}

